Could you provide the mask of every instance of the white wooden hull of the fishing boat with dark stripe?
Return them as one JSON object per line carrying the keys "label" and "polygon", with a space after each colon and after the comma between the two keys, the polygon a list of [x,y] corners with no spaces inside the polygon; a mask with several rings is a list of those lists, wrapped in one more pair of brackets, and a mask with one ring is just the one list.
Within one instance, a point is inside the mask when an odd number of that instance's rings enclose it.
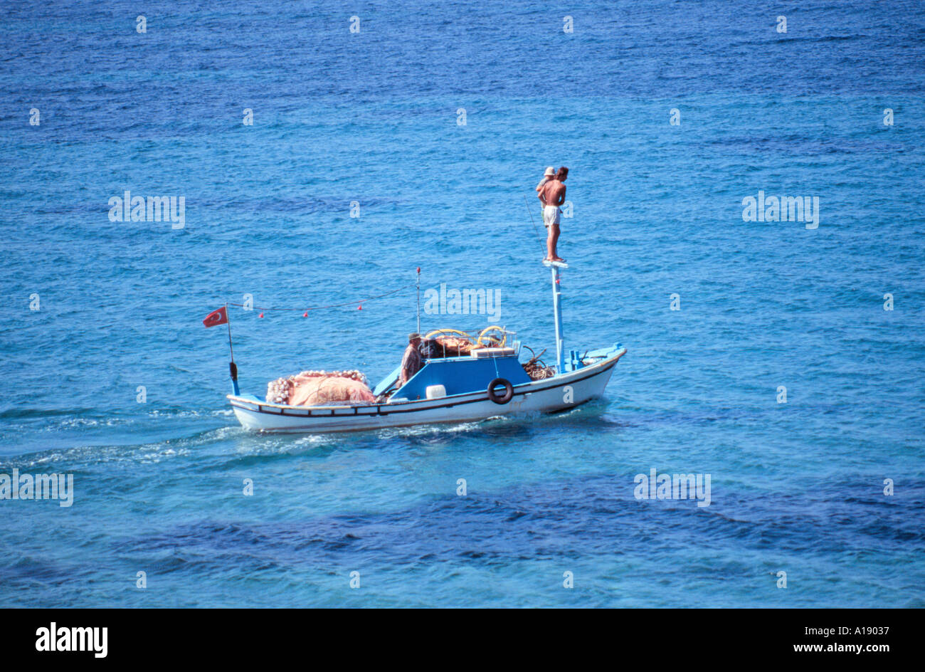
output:
{"label": "white wooden hull of the fishing boat with dark stripe", "polygon": [[291,432],[360,431],[440,422],[471,422],[488,417],[553,413],[601,396],[613,367],[626,353],[617,353],[592,366],[513,388],[507,404],[496,404],[487,390],[438,399],[361,406],[288,406],[267,404],[229,394],[228,399],[245,429]]}

